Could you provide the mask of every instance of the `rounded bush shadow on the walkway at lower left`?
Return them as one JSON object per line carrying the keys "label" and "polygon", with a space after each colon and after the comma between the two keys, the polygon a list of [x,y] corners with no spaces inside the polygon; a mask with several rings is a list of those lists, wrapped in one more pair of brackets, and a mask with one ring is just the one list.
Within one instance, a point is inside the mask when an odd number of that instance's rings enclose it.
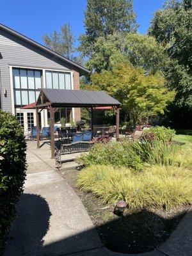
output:
{"label": "rounded bush shadow on the walkway at lower left", "polygon": [[44,244],[43,237],[49,230],[49,205],[40,195],[23,194],[17,211],[4,256],[38,255]]}

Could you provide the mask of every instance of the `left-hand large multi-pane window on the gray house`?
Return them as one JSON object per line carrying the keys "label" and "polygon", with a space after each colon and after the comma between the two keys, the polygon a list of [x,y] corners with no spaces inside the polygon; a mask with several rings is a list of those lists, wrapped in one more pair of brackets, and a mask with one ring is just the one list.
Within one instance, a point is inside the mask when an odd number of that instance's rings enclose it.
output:
{"label": "left-hand large multi-pane window on the gray house", "polygon": [[13,68],[13,89],[16,107],[35,102],[40,88],[42,88],[41,70]]}

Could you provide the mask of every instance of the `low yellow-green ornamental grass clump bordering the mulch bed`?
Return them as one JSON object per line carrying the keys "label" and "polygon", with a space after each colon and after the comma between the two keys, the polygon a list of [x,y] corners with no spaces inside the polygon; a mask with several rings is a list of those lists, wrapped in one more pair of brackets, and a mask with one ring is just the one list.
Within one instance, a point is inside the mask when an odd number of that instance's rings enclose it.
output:
{"label": "low yellow-green ornamental grass clump bordering the mulch bed", "polygon": [[175,166],[152,166],[145,172],[93,165],[82,170],[77,185],[91,191],[105,204],[125,200],[129,209],[146,207],[173,209],[191,204],[191,172]]}

